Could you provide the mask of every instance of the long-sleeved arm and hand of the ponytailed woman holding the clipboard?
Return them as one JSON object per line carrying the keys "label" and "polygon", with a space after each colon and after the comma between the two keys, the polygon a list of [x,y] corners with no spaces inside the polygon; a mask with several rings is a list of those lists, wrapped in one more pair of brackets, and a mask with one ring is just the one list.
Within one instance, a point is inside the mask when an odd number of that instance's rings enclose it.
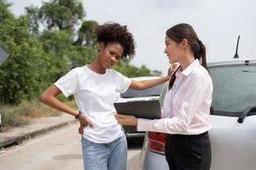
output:
{"label": "long-sleeved arm and hand of the ponytailed woman holding the clipboard", "polygon": [[196,82],[191,81],[191,86],[184,96],[181,109],[178,111],[177,116],[172,118],[148,120],[120,114],[116,114],[115,117],[119,124],[137,126],[138,131],[188,133],[189,124],[205,99],[205,94],[212,95],[212,90],[208,91],[208,87],[212,89],[212,86],[204,82],[201,78]]}

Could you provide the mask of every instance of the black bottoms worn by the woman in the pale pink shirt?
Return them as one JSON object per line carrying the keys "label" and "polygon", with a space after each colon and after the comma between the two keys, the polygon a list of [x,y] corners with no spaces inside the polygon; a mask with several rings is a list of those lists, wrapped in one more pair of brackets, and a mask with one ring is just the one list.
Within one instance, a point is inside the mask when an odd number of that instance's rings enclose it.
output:
{"label": "black bottoms worn by the woman in the pale pink shirt", "polygon": [[198,135],[166,134],[165,153],[170,170],[209,170],[211,167],[208,132]]}

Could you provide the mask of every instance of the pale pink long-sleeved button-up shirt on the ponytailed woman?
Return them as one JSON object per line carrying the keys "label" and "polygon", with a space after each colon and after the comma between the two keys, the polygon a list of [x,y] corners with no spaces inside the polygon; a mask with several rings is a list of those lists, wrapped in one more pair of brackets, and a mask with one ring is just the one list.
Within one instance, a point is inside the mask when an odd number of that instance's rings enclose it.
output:
{"label": "pale pink long-sleeved button-up shirt on the ponytailed woman", "polygon": [[165,118],[137,120],[137,131],[172,134],[200,134],[212,126],[209,122],[212,104],[212,78],[195,59],[184,71],[176,72],[176,80],[167,92],[162,113]]}

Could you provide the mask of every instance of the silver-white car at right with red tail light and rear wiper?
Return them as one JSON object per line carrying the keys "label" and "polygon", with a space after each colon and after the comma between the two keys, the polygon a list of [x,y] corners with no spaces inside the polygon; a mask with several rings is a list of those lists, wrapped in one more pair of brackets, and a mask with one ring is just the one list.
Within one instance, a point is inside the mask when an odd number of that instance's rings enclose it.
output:
{"label": "silver-white car at right with red tail light and rear wiper", "polygon": [[[256,59],[208,64],[213,82],[211,170],[256,168]],[[166,90],[160,96],[163,103]],[[145,133],[140,167],[168,170],[164,133]],[[173,146],[175,147],[175,146]]]}

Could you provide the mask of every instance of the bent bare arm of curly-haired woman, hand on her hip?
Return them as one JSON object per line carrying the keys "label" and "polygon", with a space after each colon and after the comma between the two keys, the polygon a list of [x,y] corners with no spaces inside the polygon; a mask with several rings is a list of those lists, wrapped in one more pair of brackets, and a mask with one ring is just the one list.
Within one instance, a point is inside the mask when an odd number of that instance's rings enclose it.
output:
{"label": "bent bare arm of curly-haired woman, hand on her hip", "polygon": [[[77,111],[74,111],[72,108],[70,108],[67,105],[65,105],[64,103],[62,103],[59,99],[55,98],[59,94],[61,94],[61,90],[59,88],[57,88],[55,85],[51,85],[40,96],[40,101],[43,102],[45,105],[49,105],[50,107],[55,108],[58,111],[63,111],[70,115],[78,116],[79,113]],[[90,125],[90,127],[93,127],[93,125],[90,122],[90,120],[88,119],[88,117],[85,116],[84,114],[79,116],[79,122],[80,122],[81,126],[86,127],[88,124],[88,125]]]}

